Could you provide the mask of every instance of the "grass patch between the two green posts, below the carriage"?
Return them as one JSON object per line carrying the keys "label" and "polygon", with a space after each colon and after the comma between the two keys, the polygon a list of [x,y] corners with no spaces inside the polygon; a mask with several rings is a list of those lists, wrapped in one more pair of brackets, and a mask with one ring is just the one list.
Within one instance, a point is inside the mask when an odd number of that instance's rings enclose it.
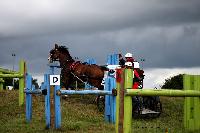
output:
{"label": "grass patch between the two green posts, below the carriage", "polygon": [[159,118],[136,119],[133,122],[134,131],[147,133],[184,133],[183,128],[183,98],[161,97],[163,112]]}

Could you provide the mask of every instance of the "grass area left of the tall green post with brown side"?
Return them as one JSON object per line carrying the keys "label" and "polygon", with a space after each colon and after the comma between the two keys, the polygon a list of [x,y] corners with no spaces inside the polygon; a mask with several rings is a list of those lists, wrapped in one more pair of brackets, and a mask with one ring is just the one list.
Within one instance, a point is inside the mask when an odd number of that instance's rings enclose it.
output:
{"label": "grass area left of the tall green post with brown side", "polygon": [[25,106],[18,106],[18,91],[0,92],[0,133],[113,133],[114,125],[105,123],[97,111],[94,96],[70,96],[62,99],[62,128],[45,129],[44,96],[33,96],[31,123],[25,119]]}

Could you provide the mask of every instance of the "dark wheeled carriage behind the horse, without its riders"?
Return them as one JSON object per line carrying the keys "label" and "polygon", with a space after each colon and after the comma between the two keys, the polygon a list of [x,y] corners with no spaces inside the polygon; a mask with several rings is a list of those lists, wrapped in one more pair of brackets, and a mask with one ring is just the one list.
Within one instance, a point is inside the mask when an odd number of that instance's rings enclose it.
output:
{"label": "dark wheeled carriage behind the horse, without its riders", "polygon": [[[118,65],[111,65],[112,67],[108,66],[108,75],[111,75],[114,77],[114,71],[115,67]],[[140,72],[140,76],[142,77],[140,80],[134,79],[133,82],[138,82],[138,89],[143,89],[143,70]],[[133,110],[133,117],[134,118],[156,118],[159,117],[162,112],[162,103],[160,101],[159,96],[134,96],[132,97],[132,110]],[[97,97],[97,107],[100,112],[104,111],[104,104],[105,103],[105,97],[104,96],[98,96]]]}

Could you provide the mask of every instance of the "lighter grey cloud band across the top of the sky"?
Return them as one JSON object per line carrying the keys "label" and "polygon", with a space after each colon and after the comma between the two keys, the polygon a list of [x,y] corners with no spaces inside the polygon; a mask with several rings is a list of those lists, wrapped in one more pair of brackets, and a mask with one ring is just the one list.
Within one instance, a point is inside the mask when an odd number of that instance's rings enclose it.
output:
{"label": "lighter grey cloud band across the top of the sky", "polygon": [[200,20],[199,0],[1,3],[2,36],[85,34],[129,27],[180,25]]}

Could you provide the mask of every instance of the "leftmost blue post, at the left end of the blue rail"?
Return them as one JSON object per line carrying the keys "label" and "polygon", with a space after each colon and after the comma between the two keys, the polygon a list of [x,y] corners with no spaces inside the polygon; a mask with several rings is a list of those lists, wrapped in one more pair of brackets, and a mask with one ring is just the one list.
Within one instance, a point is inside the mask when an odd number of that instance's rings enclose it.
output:
{"label": "leftmost blue post, at the left end of the blue rail", "polygon": [[[32,76],[26,75],[26,89],[32,89]],[[32,119],[32,94],[26,93],[26,120],[29,123]]]}

